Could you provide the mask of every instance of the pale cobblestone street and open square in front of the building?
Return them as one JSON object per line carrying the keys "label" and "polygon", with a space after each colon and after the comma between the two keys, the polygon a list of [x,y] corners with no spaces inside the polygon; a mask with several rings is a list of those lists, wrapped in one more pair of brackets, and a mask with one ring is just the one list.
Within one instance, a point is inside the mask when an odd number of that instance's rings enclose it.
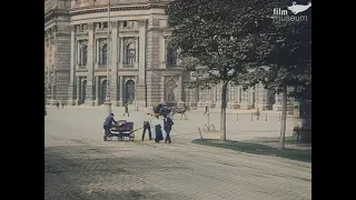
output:
{"label": "pale cobblestone street and open square in front of the building", "polygon": [[[119,116],[120,111],[115,112]],[[103,142],[103,109],[49,109],[48,113],[46,200],[312,199],[308,162],[196,146],[179,138],[179,133],[171,144]],[[199,123],[200,114],[192,117],[191,112],[190,119],[176,120],[175,126],[186,127],[181,132],[187,132]],[[144,118],[132,112],[130,120],[136,124]],[[251,134],[260,137],[264,132],[257,129]]]}

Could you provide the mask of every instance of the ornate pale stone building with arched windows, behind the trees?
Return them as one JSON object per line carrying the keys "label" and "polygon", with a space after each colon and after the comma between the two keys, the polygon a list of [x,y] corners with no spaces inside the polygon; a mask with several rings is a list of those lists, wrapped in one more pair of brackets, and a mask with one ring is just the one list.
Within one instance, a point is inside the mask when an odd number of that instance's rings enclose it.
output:
{"label": "ornate pale stone building with arched windows, behind the trees", "polygon": [[[219,107],[220,86],[188,89],[178,50],[170,47],[165,6],[170,0],[44,1],[47,101],[100,106],[107,86],[112,106],[151,107],[162,101],[192,108]],[[109,79],[107,73],[109,67]],[[228,89],[228,108],[280,108],[261,86]]]}

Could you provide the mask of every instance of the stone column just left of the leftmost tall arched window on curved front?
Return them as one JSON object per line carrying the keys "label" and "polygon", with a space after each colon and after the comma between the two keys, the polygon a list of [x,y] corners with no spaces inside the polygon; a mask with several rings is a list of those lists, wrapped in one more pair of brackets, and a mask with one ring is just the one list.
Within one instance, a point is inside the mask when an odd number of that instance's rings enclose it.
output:
{"label": "stone column just left of the leftmost tall arched window on curved front", "polygon": [[70,26],[70,73],[69,73],[69,88],[68,88],[68,104],[75,106],[75,67],[76,67],[76,28]]}

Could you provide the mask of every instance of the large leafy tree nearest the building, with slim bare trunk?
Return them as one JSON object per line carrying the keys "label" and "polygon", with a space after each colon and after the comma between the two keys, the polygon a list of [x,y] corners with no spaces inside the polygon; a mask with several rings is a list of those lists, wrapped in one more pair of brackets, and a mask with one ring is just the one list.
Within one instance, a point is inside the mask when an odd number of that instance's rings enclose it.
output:
{"label": "large leafy tree nearest the building, with slim bare trunk", "polygon": [[266,8],[261,0],[176,0],[167,7],[172,44],[181,58],[191,58],[184,63],[185,70],[196,74],[189,87],[222,84],[221,141],[226,141],[227,87],[247,73],[263,52]]}

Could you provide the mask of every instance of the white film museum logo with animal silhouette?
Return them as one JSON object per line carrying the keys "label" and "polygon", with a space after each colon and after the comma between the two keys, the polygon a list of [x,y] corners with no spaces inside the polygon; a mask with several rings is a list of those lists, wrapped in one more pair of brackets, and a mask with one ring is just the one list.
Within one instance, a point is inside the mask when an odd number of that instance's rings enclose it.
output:
{"label": "white film museum logo with animal silhouette", "polygon": [[308,4],[293,2],[287,9],[274,8],[273,20],[275,22],[305,22],[308,20],[308,17],[300,13],[307,11],[310,7],[312,2],[308,2]]}

